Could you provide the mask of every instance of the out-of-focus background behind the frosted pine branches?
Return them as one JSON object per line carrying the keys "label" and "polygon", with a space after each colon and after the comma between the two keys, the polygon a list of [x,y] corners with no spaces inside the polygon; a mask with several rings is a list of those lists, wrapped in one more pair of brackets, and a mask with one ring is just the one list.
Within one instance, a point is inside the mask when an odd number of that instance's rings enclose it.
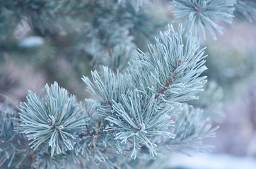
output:
{"label": "out-of-focus background behind the frosted pine branches", "polygon": [[[81,77],[103,65],[125,71],[135,50],[173,23],[170,2],[1,0],[0,102],[18,106],[28,90],[54,81],[83,102],[90,95]],[[233,23],[219,23],[222,36],[200,39],[209,82],[192,104],[220,126],[205,140],[215,148],[170,153],[163,168],[256,168],[255,10],[235,6]]]}

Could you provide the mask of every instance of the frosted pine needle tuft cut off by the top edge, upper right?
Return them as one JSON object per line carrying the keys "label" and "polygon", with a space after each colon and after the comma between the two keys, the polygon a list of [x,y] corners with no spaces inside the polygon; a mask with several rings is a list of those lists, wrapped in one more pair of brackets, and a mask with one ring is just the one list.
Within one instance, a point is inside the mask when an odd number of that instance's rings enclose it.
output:
{"label": "frosted pine needle tuft cut off by the top edge, upper right", "polygon": [[180,0],[173,1],[173,12],[175,22],[184,21],[186,32],[193,32],[194,36],[199,37],[201,34],[205,37],[205,30],[212,39],[216,39],[216,32],[223,35],[223,27],[214,20],[223,20],[231,23],[233,18],[233,8],[235,0]]}

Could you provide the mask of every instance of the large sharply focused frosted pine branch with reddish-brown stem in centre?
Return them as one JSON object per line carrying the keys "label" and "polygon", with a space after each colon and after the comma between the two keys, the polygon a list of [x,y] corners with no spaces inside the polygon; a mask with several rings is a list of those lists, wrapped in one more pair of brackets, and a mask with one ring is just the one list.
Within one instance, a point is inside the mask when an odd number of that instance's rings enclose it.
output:
{"label": "large sharply focused frosted pine branch with reddish-brown stem in centre", "polygon": [[83,77],[96,99],[88,101],[110,123],[105,131],[114,132],[120,144],[132,143],[134,158],[143,145],[156,155],[154,137],[174,138],[167,131],[173,126],[170,115],[202,90],[205,77],[199,75],[206,69],[204,49],[197,51],[192,37],[184,45],[181,37],[182,27],[175,33],[170,26],[155,45],[149,45],[149,54],[138,52],[139,61],[130,64],[127,74],[115,75],[104,68],[104,80],[96,70],[93,82]]}

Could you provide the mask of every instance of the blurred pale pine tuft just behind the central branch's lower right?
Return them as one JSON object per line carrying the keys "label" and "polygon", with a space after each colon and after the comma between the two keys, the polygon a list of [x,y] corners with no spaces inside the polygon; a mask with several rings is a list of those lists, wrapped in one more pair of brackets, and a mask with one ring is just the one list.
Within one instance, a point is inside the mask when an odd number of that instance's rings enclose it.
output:
{"label": "blurred pale pine tuft just behind the central branch's lower right", "polygon": [[175,116],[175,139],[165,139],[163,145],[171,151],[183,154],[209,151],[212,147],[202,144],[202,140],[215,137],[218,127],[212,127],[211,121],[204,118],[203,113],[199,108],[185,106],[182,112]]}

